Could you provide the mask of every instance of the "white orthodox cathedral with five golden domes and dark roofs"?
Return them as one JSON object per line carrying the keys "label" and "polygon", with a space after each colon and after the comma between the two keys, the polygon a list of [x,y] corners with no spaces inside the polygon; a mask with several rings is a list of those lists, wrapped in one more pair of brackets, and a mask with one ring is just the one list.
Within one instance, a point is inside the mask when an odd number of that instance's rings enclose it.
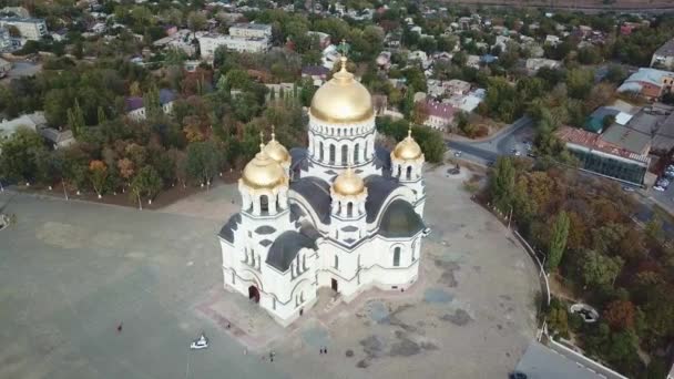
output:
{"label": "white orthodox cathedral with five golden domes and dark roofs", "polygon": [[370,93],[341,70],[309,109],[308,148],[275,139],[245,166],[242,209],[218,234],[225,289],[283,326],[320,287],[350,301],[368,288],[405,290],[418,277],[426,188],[411,132],[390,154],[375,147]]}

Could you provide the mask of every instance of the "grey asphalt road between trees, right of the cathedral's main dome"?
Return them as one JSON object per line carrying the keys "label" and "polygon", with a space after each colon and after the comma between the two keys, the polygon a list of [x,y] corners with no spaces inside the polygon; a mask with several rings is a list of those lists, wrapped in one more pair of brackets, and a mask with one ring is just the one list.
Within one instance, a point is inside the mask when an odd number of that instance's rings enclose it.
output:
{"label": "grey asphalt road between trees, right of the cathedral's main dome", "polygon": [[479,142],[448,140],[447,146],[460,151],[464,160],[487,164],[501,155],[511,154],[513,148],[525,154],[524,141],[533,139],[532,125],[533,120],[523,116],[489,139]]}

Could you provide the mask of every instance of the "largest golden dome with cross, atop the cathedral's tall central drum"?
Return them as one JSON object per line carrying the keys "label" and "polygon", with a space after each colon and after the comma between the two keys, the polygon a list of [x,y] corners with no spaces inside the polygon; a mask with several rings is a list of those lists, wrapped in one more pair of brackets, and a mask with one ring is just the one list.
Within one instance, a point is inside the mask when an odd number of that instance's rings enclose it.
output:
{"label": "largest golden dome with cross, atop the cathedral's tall central drum", "polygon": [[345,124],[375,115],[372,96],[353,73],[346,71],[346,58],[341,58],[341,70],[314,94],[309,113],[324,122]]}

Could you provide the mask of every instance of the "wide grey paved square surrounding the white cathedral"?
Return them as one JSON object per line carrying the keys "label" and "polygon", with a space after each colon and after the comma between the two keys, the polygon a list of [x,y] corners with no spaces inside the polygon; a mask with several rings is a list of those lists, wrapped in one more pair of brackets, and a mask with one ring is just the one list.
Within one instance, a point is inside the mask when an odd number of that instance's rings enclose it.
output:
{"label": "wide grey paved square surrounding the white cathedral", "polygon": [[445,170],[426,175],[420,280],[325,291],[287,329],[221,289],[234,185],[161,212],[1,194],[19,223],[0,232],[0,378],[503,378],[534,335],[535,269]]}

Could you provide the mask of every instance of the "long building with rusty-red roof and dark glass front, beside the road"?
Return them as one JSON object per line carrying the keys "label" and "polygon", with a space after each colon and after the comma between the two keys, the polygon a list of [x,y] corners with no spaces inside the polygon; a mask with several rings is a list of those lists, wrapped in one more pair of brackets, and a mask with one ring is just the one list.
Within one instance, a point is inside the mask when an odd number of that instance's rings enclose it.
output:
{"label": "long building with rusty-red roof and dark glass front, beside the road", "polygon": [[601,135],[581,129],[562,126],[555,132],[560,141],[580,161],[580,168],[602,176],[643,185],[651,158],[602,140]]}

